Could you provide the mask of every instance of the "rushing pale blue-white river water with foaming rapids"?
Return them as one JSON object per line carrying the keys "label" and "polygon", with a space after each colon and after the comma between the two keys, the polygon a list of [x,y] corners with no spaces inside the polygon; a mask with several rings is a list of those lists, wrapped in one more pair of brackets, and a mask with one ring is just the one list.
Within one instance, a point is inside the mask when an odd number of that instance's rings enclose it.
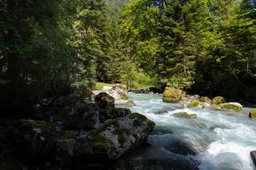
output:
{"label": "rushing pale blue-white river water with foaming rapids", "polygon": [[[127,158],[177,157],[196,164],[199,169],[255,169],[250,152],[256,150],[256,121],[248,118],[252,108],[242,108],[240,112],[213,111],[164,103],[161,98],[129,94],[129,100],[137,104],[129,108],[132,113],[146,115],[156,126],[147,140],[150,145],[137,149]],[[160,109],[169,112],[154,114]],[[183,119],[172,116],[178,112],[198,117]]]}

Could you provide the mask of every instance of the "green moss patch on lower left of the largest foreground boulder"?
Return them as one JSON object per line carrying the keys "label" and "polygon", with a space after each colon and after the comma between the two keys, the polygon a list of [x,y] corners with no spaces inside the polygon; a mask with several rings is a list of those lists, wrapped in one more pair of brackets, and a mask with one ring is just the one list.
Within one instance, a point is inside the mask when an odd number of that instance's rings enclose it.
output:
{"label": "green moss patch on lower left of the largest foreground boulder", "polygon": [[113,142],[103,135],[97,135],[88,140],[88,145],[92,147],[94,152],[105,153],[110,149]]}

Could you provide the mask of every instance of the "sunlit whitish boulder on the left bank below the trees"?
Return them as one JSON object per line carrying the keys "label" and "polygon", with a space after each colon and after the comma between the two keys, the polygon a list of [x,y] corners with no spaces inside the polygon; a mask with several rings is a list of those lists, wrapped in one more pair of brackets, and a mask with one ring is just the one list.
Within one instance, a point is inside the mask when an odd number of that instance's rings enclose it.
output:
{"label": "sunlit whitish boulder on the left bank below the trees", "polygon": [[129,98],[127,86],[124,84],[116,84],[112,87],[112,89],[107,91],[107,93],[110,94],[110,96],[112,96],[116,100],[127,100]]}

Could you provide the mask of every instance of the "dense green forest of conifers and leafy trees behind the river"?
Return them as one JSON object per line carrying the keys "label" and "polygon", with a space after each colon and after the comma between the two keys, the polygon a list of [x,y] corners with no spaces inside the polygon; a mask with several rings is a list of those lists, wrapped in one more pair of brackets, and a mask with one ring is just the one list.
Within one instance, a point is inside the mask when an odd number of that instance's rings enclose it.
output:
{"label": "dense green forest of conifers and leafy trees behind the river", "polygon": [[256,1],[1,0],[0,70],[6,114],[79,81],[255,102]]}

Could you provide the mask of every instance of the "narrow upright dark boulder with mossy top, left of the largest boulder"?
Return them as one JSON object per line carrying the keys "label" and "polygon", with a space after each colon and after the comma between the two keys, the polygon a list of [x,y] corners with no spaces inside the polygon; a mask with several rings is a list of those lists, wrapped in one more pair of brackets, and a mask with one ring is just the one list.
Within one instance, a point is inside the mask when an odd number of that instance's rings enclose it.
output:
{"label": "narrow upright dark boulder with mossy top, left of the largest boulder", "polygon": [[61,167],[71,167],[75,145],[77,144],[75,132],[61,132],[56,140],[56,163]]}

